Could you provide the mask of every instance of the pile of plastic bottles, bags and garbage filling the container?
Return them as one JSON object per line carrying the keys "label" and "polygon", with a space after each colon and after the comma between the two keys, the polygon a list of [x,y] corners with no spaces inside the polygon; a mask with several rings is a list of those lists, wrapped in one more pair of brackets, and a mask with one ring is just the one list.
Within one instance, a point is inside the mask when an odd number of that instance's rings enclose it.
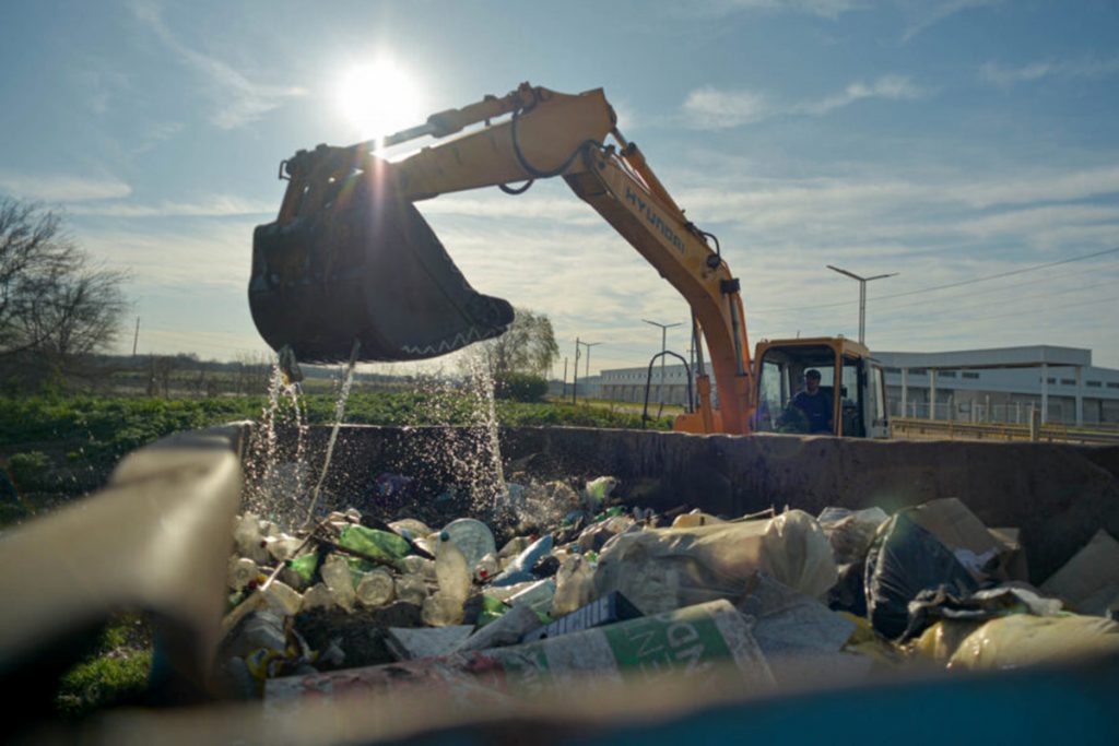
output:
{"label": "pile of plastic bottles, bags and garbage filling the container", "polygon": [[507,517],[554,522],[501,541],[474,518],[348,509],[293,536],[239,516],[219,665],[238,695],[282,700],[713,667],[765,690],[1119,652],[1119,541],[1102,530],[1034,587],[1017,531],[953,498],[730,518],[626,507],[615,485],[510,485]]}

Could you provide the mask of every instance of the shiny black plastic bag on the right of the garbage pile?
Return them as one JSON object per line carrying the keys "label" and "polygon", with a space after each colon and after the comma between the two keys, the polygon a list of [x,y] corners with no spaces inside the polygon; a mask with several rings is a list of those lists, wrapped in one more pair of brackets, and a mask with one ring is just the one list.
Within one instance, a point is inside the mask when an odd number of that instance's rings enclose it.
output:
{"label": "shiny black plastic bag on the right of the garbage pile", "polygon": [[[910,626],[909,603],[941,586],[962,597],[978,585],[956,556],[903,510],[875,538],[866,556],[866,608],[871,624],[891,640]],[[909,629],[909,634],[921,630]]]}

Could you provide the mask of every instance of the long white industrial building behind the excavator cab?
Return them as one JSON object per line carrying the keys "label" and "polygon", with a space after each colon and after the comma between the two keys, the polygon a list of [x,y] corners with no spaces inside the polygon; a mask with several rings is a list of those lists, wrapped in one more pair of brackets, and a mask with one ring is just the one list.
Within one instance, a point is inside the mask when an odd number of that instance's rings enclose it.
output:
{"label": "long white industrial building behind the excavator cab", "polygon": [[[1119,370],[1092,365],[1092,351],[1040,344],[951,352],[874,352],[886,374],[894,417],[966,422],[1119,424]],[[601,397],[643,402],[649,369],[603,370]],[[683,365],[653,367],[649,402],[685,404]],[[664,397],[664,398],[662,398]],[[933,404],[934,403],[934,404]]]}

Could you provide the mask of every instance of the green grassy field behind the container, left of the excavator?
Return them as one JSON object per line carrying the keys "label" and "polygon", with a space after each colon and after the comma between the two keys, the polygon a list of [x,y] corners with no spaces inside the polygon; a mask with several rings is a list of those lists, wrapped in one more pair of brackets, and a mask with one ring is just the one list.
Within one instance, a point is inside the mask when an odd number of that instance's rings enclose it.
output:
{"label": "green grassy field behind the container, left of the excavator", "polygon": [[[332,394],[308,394],[300,402],[308,423],[333,423]],[[179,431],[256,419],[266,405],[266,397],[248,396],[0,398],[0,526],[98,489],[130,451]],[[485,410],[485,403],[470,391],[354,391],[344,419],[388,426],[479,425],[479,408]],[[641,426],[640,415],[601,403],[498,399],[495,409],[504,426]],[[281,400],[278,421],[291,421],[293,415],[291,403]],[[649,427],[668,426],[667,417],[649,423]]]}

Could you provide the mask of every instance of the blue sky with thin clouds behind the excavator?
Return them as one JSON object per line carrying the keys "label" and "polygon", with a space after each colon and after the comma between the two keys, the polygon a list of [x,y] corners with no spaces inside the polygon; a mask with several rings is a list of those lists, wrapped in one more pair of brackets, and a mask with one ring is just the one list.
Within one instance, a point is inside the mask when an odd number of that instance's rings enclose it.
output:
{"label": "blue sky with thin clouds behind the excavator", "polygon": [[[0,193],[65,210],[131,272],[141,351],[264,350],[253,226],[279,208],[281,159],[372,134],[338,91],[375,59],[411,81],[401,126],[523,81],[605,88],[718,235],[754,341],[855,337],[835,264],[899,273],[868,285],[872,349],[1065,344],[1119,367],[1109,0],[6,2]],[[688,318],[562,182],[421,209],[474,287],[551,317],[564,355],[601,342],[593,369],[659,350],[642,319]]]}

